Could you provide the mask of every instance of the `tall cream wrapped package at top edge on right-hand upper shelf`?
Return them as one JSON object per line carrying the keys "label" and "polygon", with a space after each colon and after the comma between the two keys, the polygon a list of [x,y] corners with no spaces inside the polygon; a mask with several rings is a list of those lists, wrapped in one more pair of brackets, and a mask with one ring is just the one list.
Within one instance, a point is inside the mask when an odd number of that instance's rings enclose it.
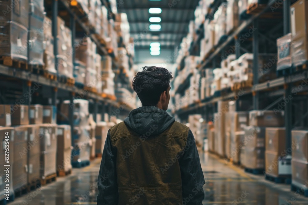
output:
{"label": "tall cream wrapped package at top edge on right-hand upper shelf", "polygon": [[226,10],[226,34],[230,34],[239,25],[238,0],[229,0]]}

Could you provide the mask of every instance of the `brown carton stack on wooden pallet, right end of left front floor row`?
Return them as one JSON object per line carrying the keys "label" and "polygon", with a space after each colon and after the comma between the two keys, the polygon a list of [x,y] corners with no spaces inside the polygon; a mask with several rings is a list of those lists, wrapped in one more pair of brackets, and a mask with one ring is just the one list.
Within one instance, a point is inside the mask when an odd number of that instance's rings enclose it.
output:
{"label": "brown carton stack on wooden pallet, right end of left front floor row", "polygon": [[57,126],[57,171],[71,170],[71,126]]}

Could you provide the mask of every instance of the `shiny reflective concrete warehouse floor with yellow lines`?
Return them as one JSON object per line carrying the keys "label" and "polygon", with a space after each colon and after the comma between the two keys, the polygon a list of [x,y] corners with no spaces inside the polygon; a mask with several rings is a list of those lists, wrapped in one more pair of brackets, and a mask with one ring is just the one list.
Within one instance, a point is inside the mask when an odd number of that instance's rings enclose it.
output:
{"label": "shiny reflective concrete warehouse floor with yellow lines", "polygon": [[[290,185],[266,181],[263,175],[247,174],[241,168],[208,153],[200,153],[200,158],[206,181],[203,204],[308,204],[308,198],[290,191]],[[94,160],[88,167],[73,169],[72,175],[58,177],[56,182],[16,198],[9,204],[94,205],[100,160]]]}

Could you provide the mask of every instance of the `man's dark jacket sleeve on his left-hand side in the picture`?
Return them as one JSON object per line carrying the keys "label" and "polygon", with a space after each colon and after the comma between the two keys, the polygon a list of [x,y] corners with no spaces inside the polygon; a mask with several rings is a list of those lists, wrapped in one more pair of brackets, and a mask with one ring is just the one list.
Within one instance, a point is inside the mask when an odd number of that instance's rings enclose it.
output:
{"label": "man's dark jacket sleeve on his left-hand side in the picture", "polygon": [[116,177],[116,150],[111,144],[110,130],[108,131],[103,150],[97,186],[97,205],[115,205],[118,203],[119,194]]}

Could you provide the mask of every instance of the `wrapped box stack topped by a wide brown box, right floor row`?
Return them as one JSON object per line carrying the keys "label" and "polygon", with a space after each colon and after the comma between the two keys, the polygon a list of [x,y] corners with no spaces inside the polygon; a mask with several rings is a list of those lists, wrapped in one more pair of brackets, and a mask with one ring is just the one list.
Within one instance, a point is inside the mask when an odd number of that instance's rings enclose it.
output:
{"label": "wrapped box stack topped by a wide brown box, right floor row", "polygon": [[249,112],[249,126],[244,128],[245,138],[241,150],[241,164],[245,168],[265,168],[265,128],[282,127],[283,112],[253,110]]}

